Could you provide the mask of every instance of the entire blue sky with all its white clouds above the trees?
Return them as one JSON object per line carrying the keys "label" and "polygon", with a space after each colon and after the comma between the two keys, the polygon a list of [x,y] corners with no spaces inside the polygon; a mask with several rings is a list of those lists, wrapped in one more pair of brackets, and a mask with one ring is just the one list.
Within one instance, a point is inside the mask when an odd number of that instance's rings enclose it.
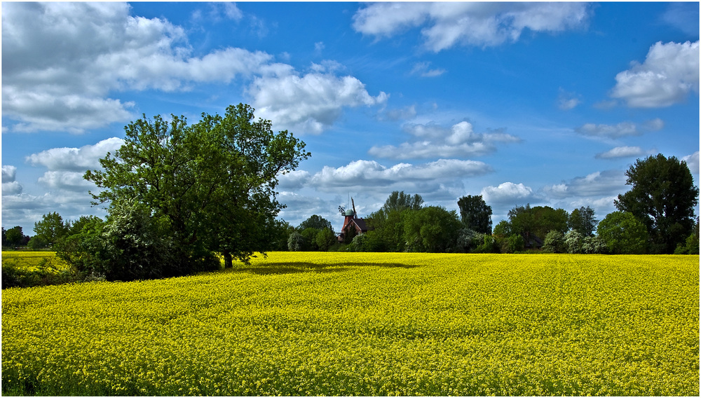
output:
{"label": "entire blue sky with all its white clouds above the trees", "polygon": [[699,177],[698,3],[2,4],[2,225],[104,216],[85,170],[140,118],[244,102],[312,157],[280,218],[392,191],[603,219],[663,153]]}

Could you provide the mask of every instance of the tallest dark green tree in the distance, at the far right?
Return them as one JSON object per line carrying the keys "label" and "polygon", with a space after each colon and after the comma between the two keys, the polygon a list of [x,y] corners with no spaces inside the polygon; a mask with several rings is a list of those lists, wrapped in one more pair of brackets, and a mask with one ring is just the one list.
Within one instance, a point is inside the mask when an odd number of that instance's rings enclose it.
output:
{"label": "tallest dark green tree in the distance, at the far right", "polygon": [[646,226],[654,252],[672,254],[692,233],[698,203],[699,189],[686,162],[659,153],[636,160],[625,175],[632,188],[618,195],[615,207]]}

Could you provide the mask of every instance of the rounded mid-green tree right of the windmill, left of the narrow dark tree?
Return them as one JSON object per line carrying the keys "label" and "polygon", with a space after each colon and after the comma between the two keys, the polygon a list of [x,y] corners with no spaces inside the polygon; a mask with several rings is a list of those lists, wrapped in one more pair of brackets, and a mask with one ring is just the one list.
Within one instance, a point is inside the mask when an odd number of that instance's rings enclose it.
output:
{"label": "rounded mid-green tree right of the windmill, left of the narrow dark tree", "polygon": [[462,223],[455,210],[428,206],[407,212],[404,240],[410,252],[448,252],[454,250]]}

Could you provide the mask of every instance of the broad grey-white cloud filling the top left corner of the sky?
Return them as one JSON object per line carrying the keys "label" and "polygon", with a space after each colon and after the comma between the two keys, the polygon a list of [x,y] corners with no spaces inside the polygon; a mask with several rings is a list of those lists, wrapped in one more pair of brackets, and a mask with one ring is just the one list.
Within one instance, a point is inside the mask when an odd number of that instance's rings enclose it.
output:
{"label": "broad grey-white cloud filling the top left corner of the sky", "polygon": [[127,121],[134,104],[109,92],[228,83],[271,60],[241,48],[195,57],[182,27],[129,13],[124,3],[4,5],[3,113],[16,130],[80,133]]}

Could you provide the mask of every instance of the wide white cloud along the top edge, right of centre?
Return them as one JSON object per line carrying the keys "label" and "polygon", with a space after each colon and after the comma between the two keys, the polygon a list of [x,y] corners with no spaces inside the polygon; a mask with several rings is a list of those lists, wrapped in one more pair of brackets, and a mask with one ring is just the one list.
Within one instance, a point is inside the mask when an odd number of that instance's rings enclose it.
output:
{"label": "wide white cloud along the top edge, right of centre", "polygon": [[517,41],[525,29],[562,32],[583,27],[589,15],[580,3],[375,3],[360,8],[353,28],[378,38],[423,27],[424,46],[498,46]]}

